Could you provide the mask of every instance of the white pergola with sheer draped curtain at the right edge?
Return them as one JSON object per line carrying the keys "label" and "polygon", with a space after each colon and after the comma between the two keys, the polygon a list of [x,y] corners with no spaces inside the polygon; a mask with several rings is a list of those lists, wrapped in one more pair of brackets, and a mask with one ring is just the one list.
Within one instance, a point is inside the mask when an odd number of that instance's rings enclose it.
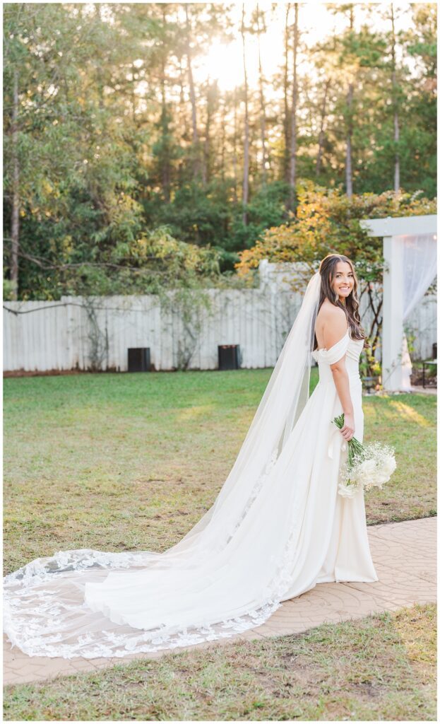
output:
{"label": "white pergola with sheer draped curtain at the right edge", "polygon": [[403,322],[436,276],[436,214],[364,219],[370,236],[384,239],[382,384],[408,391],[411,361]]}

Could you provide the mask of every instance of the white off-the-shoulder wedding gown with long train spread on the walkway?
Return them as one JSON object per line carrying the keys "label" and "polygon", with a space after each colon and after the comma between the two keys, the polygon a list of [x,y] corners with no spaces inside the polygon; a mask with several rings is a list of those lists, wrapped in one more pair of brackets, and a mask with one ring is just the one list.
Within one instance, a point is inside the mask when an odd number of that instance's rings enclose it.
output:
{"label": "white off-the-shoulder wedding gown with long train spread on the walkway", "polygon": [[239,518],[235,487],[217,515],[213,506],[164,553],[86,549],[28,563],[4,579],[9,641],[30,656],[65,658],[173,649],[255,628],[317,583],[377,581],[363,491],[337,494],[343,439],[331,422],[342,409],[330,364],[346,355],[363,439],[362,345],[347,329],[313,353],[318,385]]}

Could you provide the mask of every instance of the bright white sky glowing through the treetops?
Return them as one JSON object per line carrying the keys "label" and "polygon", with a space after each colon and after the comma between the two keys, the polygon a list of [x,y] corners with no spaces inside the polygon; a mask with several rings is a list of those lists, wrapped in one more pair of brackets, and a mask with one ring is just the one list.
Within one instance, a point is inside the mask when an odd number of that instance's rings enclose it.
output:
{"label": "bright white sky glowing through the treetops", "polygon": [[[356,4],[356,3],[355,3]],[[385,10],[389,3],[369,3],[377,6],[373,12],[367,14],[362,8],[355,7],[355,29],[359,30],[360,25],[368,22],[372,30],[384,30],[384,21],[379,17],[381,9]],[[289,12],[289,23],[294,20],[294,9],[291,4]],[[270,12],[271,6],[275,6]],[[300,29],[300,42],[311,46],[316,41],[323,41],[336,31],[347,28],[347,20],[342,16],[335,18],[327,9],[327,3],[308,2],[301,3],[298,10],[298,25]],[[250,17],[256,2],[246,2],[246,18]],[[266,0],[259,2],[261,9],[268,9],[267,33],[261,36],[261,62],[263,74],[266,77],[279,69],[283,64],[284,54],[284,18],[286,3],[270,3]],[[242,62],[242,40],[240,35],[242,3],[234,4],[234,40],[229,44],[214,41],[211,50],[203,58],[195,59],[194,75],[198,82],[206,80],[218,80],[219,86],[224,90],[232,90],[236,85],[244,82]],[[394,22],[396,31],[408,28],[411,25],[411,10],[409,3],[394,3]],[[246,22],[246,20],[245,20]],[[391,25],[391,23],[390,23]],[[391,29],[391,28],[390,28]],[[248,70],[248,83],[255,88],[258,85],[258,44],[256,35],[246,34],[246,62]],[[290,59],[291,62],[291,59]],[[300,63],[300,57],[298,58]]]}

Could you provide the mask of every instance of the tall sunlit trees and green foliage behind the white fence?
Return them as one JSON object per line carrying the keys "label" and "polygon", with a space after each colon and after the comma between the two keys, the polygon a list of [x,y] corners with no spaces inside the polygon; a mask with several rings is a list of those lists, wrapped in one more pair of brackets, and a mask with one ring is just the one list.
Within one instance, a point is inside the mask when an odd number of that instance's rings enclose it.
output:
{"label": "tall sunlit trees and green foliage behind the white fence", "polygon": [[[436,194],[436,7],[410,7],[407,28],[396,38],[401,60],[394,84],[389,7],[355,5],[356,17],[380,12],[383,20],[378,30],[363,22],[356,31],[349,28],[351,7],[331,6],[329,12],[343,18],[345,29],[300,49],[312,72],[300,71],[298,77],[296,190],[300,203],[303,189],[316,183],[330,190],[329,198],[340,194],[341,220],[335,217],[330,224],[326,244],[329,224],[321,214],[317,248],[342,245],[354,253],[350,244],[359,235],[353,219],[362,216],[355,200],[342,200],[347,127],[352,129],[353,185],[365,213],[380,211],[368,203],[368,195],[382,198],[393,188],[396,153],[400,198],[420,194],[429,200]],[[232,8],[190,3],[186,9],[188,26],[182,4],[4,5],[4,269],[9,277],[15,198],[20,298],[54,299],[92,291],[94,284],[96,292],[151,288],[148,274],[140,274],[135,264],[133,279],[128,261],[118,272],[109,264],[156,228],[159,235],[168,227],[176,240],[210,246],[220,270],[229,272],[240,252],[253,248],[265,230],[280,227],[282,236],[292,228],[284,138],[292,59],[286,84],[282,55],[271,77],[263,58],[265,169],[261,97],[257,88],[249,89],[250,195],[243,222],[244,91],[240,86],[223,90],[215,79],[200,80],[196,72],[211,46],[227,41]],[[263,33],[272,12],[279,11],[260,9]],[[246,34],[257,30],[251,14]],[[302,22],[300,12],[300,31]],[[291,51],[290,25],[287,33]],[[384,213],[405,213],[400,200],[394,206],[392,195],[386,198]],[[423,212],[415,208],[415,213]],[[298,222],[298,233],[307,230],[307,222]],[[344,230],[347,224],[352,227]],[[365,239],[360,248],[363,253]],[[182,274],[187,272],[185,267]],[[163,282],[158,274],[156,285]],[[5,294],[9,291],[6,285]]]}

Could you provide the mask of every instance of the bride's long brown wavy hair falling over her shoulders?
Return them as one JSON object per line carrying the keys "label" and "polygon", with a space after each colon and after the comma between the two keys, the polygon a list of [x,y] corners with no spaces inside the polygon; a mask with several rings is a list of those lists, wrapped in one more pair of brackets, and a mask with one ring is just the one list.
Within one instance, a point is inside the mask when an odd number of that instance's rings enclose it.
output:
{"label": "bride's long brown wavy hair falling over her shoulders", "polygon": [[[350,268],[353,273],[354,285],[352,291],[345,298],[345,302],[339,301],[339,296],[335,295],[335,292],[331,288],[334,277],[336,277],[336,267],[338,261],[347,261],[350,264]],[[352,261],[344,254],[327,254],[319,265],[319,273],[321,274],[321,293],[319,296],[318,311],[321,309],[321,305],[324,300],[328,299],[331,304],[335,307],[340,307],[344,310],[345,316],[347,317],[347,324],[349,327],[349,335],[352,340],[365,340],[365,347],[369,347],[369,342],[365,330],[360,324],[359,314],[359,301],[358,301],[358,277],[356,276],[355,267]],[[318,312],[317,312],[318,313]],[[316,339],[313,345],[313,349],[318,347],[318,340]]]}

